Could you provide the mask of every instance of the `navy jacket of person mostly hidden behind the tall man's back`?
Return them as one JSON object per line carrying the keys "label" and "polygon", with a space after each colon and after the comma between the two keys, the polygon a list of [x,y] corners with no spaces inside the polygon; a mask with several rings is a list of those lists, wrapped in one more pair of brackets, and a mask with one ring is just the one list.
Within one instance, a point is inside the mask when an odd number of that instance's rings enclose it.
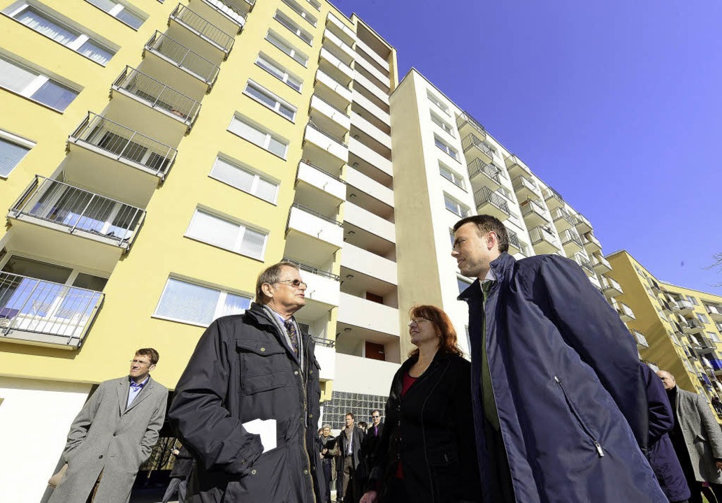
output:
{"label": "navy jacket of person mostly hidden behind the tall man's back", "polygon": [[659,486],[671,502],[690,499],[690,488],[674,452],[669,432],[674,428],[674,411],[661,380],[651,368],[640,364],[647,385],[649,403],[649,452],[647,458]]}

